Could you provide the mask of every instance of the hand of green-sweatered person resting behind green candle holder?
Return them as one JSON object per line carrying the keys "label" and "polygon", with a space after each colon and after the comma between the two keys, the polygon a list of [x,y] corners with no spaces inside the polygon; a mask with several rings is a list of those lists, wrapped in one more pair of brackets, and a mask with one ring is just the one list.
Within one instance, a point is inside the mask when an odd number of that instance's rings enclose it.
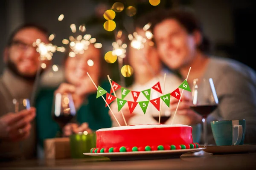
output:
{"label": "hand of green-sweatered person resting behind green candle holder", "polygon": [[67,137],[72,135],[73,133],[79,133],[87,131],[88,133],[92,133],[92,130],[89,128],[87,123],[82,123],[80,126],[76,123],[69,123],[63,127],[63,136]]}

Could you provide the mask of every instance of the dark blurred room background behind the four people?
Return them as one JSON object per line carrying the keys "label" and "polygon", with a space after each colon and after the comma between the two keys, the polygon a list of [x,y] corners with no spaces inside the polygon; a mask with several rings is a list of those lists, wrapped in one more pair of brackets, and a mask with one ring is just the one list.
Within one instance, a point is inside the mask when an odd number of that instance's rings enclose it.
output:
{"label": "dark blurred room background behind the four people", "polygon": [[[137,8],[137,15],[152,8],[190,6],[203,23],[205,34],[212,42],[213,55],[237,59],[256,69],[255,53],[255,0],[161,0],[159,6],[151,6],[148,0],[119,0]],[[11,31],[26,22],[37,22],[56,35],[55,45],[72,35],[70,24],[85,23],[86,34],[92,34],[103,44],[103,52],[111,51],[113,31],[103,28],[105,19],[100,9],[109,9],[117,0],[1,0],[0,1],[0,53]],[[64,14],[59,22],[58,16]],[[128,19],[128,20],[127,20]],[[116,13],[117,28],[125,21],[132,28],[133,17],[125,16],[125,10]],[[130,27],[131,26],[131,27]],[[53,64],[60,65],[64,53],[56,52]],[[0,73],[3,71],[3,55],[0,58]],[[116,67],[116,63],[111,67]],[[117,72],[117,71],[116,71]]]}

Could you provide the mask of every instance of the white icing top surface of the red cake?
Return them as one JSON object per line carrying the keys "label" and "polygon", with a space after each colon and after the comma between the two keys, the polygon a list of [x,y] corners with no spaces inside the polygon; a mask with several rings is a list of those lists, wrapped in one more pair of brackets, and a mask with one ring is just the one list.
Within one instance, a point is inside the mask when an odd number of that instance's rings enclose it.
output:
{"label": "white icing top surface of the red cake", "polygon": [[181,124],[175,124],[175,125],[151,124],[151,125],[117,126],[117,127],[110,127],[110,128],[102,128],[102,129],[96,130],[96,132],[108,131],[108,130],[149,129],[149,128],[161,128],[161,127],[191,127],[191,126],[181,125]]}

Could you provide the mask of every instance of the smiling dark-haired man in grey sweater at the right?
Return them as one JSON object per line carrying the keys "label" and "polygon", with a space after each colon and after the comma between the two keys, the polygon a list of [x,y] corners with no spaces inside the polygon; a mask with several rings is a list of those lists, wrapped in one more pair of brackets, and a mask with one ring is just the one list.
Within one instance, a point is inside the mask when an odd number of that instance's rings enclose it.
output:
{"label": "smiling dark-haired man in grey sweater at the right", "polygon": [[[177,71],[193,87],[195,78],[212,78],[218,96],[218,108],[207,117],[208,129],[214,120],[246,120],[244,143],[256,142],[256,73],[241,62],[209,55],[209,41],[204,37],[200,21],[189,9],[166,9],[151,16],[157,51],[171,70]],[[171,111],[177,100],[171,99]],[[201,122],[202,117],[192,111],[192,98],[182,97],[177,115]],[[208,130],[209,144],[214,144]]]}

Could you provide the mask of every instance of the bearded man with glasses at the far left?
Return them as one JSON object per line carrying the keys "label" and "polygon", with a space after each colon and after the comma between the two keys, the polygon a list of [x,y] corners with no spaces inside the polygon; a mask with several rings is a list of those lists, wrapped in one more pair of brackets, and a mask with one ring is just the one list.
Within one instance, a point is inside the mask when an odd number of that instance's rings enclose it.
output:
{"label": "bearded man with glasses at the far left", "polygon": [[[40,54],[32,46],[41,39],[49,43],[45,28],[25,24],[17,28],[4,50],[6,68],[0,77],[0,160],[35,156],[35,108],[13,113],[13,99],[30,99]],[[22,150],[20,150],[20,143]]]}

